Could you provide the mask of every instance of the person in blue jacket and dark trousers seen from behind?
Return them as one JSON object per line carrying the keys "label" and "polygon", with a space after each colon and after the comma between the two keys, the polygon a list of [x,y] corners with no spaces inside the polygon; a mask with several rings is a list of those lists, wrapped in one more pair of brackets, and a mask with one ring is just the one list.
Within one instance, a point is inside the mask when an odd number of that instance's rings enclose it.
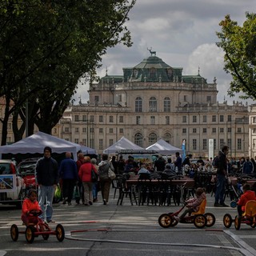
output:
{"label": "person in blue jacket and dark trousers seen from behind", "polygon": [[66,152],[66,159],[62,160],[59,166],[59,177],[62,178],[62,195],[63,202],[66,202],[71,206],[71,201],[73,198],[74,186],[78,182],[78,168],[76,162],[71,159],[71,153]]}

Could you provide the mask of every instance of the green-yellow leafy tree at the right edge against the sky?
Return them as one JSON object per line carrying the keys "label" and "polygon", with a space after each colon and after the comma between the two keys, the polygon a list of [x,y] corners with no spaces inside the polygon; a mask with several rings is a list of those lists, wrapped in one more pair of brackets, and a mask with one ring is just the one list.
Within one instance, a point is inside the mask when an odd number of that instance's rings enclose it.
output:
{"label": "green-yellow leafy tree at the right edge against the sky", "polygon": [[245,96],[240,98],[256,99],[256,14],[246,13],[243,26],[232,21],[230,15],[219,25],[222,31],[217,32],[220,42],[216,44],[224,50],[224,70],[233,78],[228,94],[242,92]]}

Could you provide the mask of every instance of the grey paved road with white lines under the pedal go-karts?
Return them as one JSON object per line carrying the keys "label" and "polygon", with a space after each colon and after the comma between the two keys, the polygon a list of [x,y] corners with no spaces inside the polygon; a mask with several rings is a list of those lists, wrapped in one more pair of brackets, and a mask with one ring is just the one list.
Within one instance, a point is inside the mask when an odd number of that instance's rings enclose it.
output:
{"label": "grey paved road with white lines under the pedal go-karts", "polygon": [[[18,241],[10,238],[10,226],[18,224],[20,210],[10,206],[0,208],[0,256],[2,255],[256,255],[255,230],[242,225],[241,230],[223,226],[226,213],[235,216],[232,208],[214,208],[214,198],[207,194],[207,212],[216,217],[212,228],[198,230],[193,224],[182,224],[163,229],[158,225],[158,216],[178,210],[178,206],[130,206],[125,198],[122,206],[116,206],[117,198],[107,206],[102,202],[93,206],[54,205],[54,220],[62,223],[66,231],[64,242],[54,236],[48,241],[35,238],[28,244],[24,234]],[[229,200],[226,201],[228,203]],[[54,229],[56,224],[52,224]],[[79,231],[79,232],[78,232]]]}

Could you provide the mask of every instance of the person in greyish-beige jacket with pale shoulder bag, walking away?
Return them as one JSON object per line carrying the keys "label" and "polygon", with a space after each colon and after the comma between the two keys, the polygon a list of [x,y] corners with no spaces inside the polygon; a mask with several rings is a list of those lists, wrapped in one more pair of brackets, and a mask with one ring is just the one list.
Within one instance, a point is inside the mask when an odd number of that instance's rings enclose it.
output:
{"label": "person in greyish-beige jacket with pale shoulder bag, walking away", "polygon": [[102,200],[104,205],[109,201],[110,185],[112,182],[109,178],[109,169],[114,171],[114,166],[108,160],[108,157],[108,154],[102,154],[102,162],[98,164],[99,182],[102,188]]}

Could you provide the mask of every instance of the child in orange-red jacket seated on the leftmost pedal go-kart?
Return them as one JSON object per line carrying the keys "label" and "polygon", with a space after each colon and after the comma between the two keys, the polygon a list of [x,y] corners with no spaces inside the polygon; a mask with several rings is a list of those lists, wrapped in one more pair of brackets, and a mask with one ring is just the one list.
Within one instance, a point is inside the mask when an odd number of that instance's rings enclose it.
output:
{"label": "child in orange-red jacket seated on the leftmost pedal go-kart", "polygon": [[22,204],[22,222],[27,226],[29,223],[36,224],[38,222],[42,222],[41,218],[38,216],[31,216],[31,210],[40,210],[42,212],[41,207],[37,201],[37,191],[30,190],[27,198],[24,199]]}

